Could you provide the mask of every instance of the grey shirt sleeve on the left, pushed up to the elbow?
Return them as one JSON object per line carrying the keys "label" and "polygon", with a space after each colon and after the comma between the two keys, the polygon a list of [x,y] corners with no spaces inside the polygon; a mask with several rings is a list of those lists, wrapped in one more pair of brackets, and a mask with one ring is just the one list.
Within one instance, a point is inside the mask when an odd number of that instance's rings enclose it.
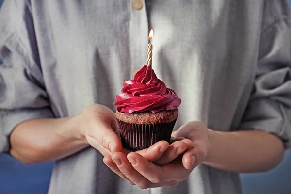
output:
{"label": "grey shirt sleeve on the left, pushed up to the elbow", "polygon": [[9,151],[9,135],[19,123],[54,117],[30,10],[24,0],[6,0],[0,12],[0,152]]}

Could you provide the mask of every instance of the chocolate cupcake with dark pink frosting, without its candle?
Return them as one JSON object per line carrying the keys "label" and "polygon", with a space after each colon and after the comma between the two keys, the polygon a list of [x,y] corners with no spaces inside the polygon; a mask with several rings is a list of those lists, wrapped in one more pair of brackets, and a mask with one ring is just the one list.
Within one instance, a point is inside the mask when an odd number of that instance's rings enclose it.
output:
{"label": "chocolate cupcake with dark pink frosting, without its candle", "polygon": [[170,141],[181,99],[144,65],[116,95],[116,119],[125,148],[141,150],[158,141]]}

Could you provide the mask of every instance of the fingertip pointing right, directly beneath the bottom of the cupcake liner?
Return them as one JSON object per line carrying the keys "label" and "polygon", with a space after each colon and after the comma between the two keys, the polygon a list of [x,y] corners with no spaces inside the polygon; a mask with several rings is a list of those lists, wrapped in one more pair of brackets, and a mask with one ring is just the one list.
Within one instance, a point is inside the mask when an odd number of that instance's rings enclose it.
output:
{"label": "fingertip pointing right, directly beneath the bottom of the cupcake liner", "polygon": [[163,153],[168,149],[169,143],[166,141],[159,141],[147,149],[136,151],[136,153],[143,156],[149,162],[157,161]]}

